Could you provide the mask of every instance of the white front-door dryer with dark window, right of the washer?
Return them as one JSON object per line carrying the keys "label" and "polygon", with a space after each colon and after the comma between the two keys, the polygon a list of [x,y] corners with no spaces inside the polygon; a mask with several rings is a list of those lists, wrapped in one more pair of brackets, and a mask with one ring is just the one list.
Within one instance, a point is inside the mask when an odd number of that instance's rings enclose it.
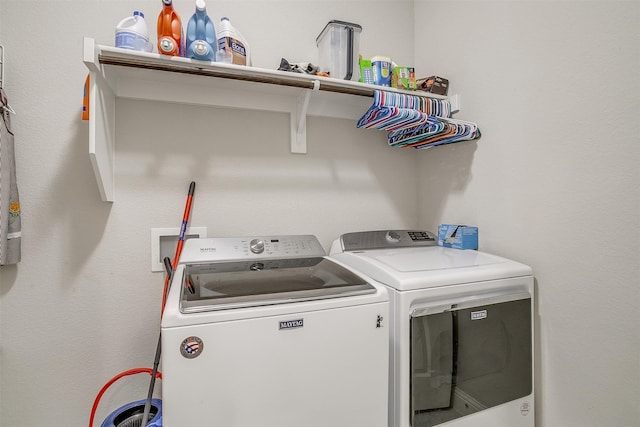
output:
{"label": "white front-door dryer with dark window, right of the washer", "polygon": [[428,231],[342,235],[330,256],[389,290],[390,427],[533,427],[533,273]]}

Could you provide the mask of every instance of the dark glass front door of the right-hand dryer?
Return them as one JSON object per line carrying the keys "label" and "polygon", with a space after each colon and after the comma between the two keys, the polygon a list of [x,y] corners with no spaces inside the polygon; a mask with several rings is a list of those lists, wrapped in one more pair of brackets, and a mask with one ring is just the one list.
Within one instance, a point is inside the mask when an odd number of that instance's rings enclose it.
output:
{"label": "dark glass front door of the right-hand dryer", "polygon": [[526,292],[415,308],[410,333],[414,427],[444,423],[532,391]]}

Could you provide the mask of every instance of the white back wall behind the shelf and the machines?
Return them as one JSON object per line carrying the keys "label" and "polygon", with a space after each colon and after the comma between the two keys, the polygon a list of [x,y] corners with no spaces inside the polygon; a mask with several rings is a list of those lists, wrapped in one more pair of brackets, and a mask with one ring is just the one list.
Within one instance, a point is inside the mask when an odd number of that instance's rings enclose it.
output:
{"label": "white back wall behind the shelf and the machines", "polygon": [[[107,380],[151,366],[163,276],[150,272],[150,228],[179,226],[191,180],[191,224],[210,235],[312,233],[328,249],[343,232],[417,223],[416,157],[352,120],[310,118],[301,156],[288,151],[284,114],[127,100],[116,117],[116,201],[102,202],[80,120],[82,38],[113,44],[116,23],[134,8],[152,27],[160,0],[0,5],[23,208],[22,262],[0,270],[3,427],[87,425]],[[192,1],[176,5],[183,18],[192,13]],[[313,61],[330,19],[361,24],[367,54],[413,56],[410,2],[210,0],[207,8],[216,20],[231,17],[256,66]],[[383,21],[395,23],[397,39]],[[96,424],[144,399],[148,380],[116,383]]]}

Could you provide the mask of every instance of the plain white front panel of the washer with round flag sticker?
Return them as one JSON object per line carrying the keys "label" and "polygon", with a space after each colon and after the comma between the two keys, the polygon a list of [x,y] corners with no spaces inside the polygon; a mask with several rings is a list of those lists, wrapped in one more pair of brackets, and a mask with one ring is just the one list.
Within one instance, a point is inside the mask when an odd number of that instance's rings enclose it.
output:
{"label": "plain white front panel of the washer with round flag sticker", "polygon": [[[375,303],[163,329],[164,425],[386,427],[388,311]],[[303,327],[279,329],[298,319]],[[193,359],[180,352],[189,336],[203,343]]]}

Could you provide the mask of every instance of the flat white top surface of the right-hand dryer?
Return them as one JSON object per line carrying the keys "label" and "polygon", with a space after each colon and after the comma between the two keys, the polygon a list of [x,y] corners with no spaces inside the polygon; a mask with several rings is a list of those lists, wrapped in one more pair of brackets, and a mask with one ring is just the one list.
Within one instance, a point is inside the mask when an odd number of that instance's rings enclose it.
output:
{"label": "flat white top surface of the right-hand dryer", "polygon": [[531,268],[474,250],[440,246],[372,249],[333,254],[372,279],[398,290],[530,276]]}

